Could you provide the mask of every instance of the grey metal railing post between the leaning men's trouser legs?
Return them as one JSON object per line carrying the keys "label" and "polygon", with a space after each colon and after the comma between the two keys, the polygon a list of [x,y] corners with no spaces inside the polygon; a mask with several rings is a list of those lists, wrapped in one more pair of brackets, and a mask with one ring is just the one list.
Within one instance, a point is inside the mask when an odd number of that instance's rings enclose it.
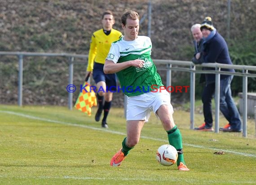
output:
{"label": "grey metal railing post between the leaning men's trouser legs", "polygon": [[[220,67],[215,68],[216,71],[221,71]],[[219,133],[219,122],[220,122],[220,84],[221,74],[216,73],[215,75],[215,132]]]}

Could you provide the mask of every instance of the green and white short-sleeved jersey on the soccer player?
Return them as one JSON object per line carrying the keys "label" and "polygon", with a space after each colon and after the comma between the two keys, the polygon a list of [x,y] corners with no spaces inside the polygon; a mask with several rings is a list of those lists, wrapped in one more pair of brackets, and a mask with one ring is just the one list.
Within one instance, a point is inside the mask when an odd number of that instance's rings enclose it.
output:
{"label": "green and white short-sleeved jersey on the soccer player", "polygon": [[121,37],[111,44],[107,60],[115,63],[136,59],[145,61],[142,68],[130,66],[116,73],[121,85],[119,89],[122,89],[128,97],[148,93],[163,86],[160,75],[150,57],[151,49],[152,43],[147,36],[138,36],[136,40],[132,41],[125,41]]}

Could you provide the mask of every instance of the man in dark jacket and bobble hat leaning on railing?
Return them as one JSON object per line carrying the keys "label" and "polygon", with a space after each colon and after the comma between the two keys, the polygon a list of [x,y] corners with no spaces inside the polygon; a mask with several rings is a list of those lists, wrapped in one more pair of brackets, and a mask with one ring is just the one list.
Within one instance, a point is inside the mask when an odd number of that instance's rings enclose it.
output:
{"label": "man in dark jacket and bobble hat leaning on railing", "polygon": [[[202,52],[197,53],[195,58],[203,60],[205,63],[221,63],[232,65],[227,43],[224,38],[216,31],[212,25],[212,18],[206,17],[201,24],[203,34]],[[205,70],[214,70],[204,68]],[[234,69],[221,69],[223,71],[234,72]],[[205,74],[206,84],[203,89],[203,115],[204,121],[202,126],[195,128],[202,131],[213,131],[212,128],[212,97],[215,93],[215,74]],[[225,118],[229,121],[226,128],[221,128],[223,132],[241,132],[241,119],[238,109],[231,96],[230,84],[233,75],[221,75],[220,82],[220,110]]]}

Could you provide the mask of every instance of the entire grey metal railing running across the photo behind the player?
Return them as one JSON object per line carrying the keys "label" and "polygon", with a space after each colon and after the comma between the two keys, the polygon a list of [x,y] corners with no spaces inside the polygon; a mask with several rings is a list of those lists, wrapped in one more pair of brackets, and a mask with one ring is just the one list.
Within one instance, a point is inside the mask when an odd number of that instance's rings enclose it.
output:
{"label": "entire grey metal railing running across the photo behind the player", "polygon": [[[18,105],[22,106],[22,83],[23,83],[23,57],[26,56],[46,56],[46,57],[68,57],[69,59],[69,84],[73,84],[73,66],[74,58],[88,58],[88,55],[72,53],[29,53],[29,52],[0,52],[0,55],[14,55],[18,57],[19,74],[18,74]],[[166,85],[171,86],[172,70],[190,72],[190,129],[194,129],[194,102],[195,102],[195,74],[211,73],[216,74],[215,82],[215,132],[219,132],[219,115],[220,115],[220,75],[234,75],[243,77],[243,137],[247,137],[247,78],[256,77],[256,74],[250,74],[248,71],[256,71],[256,66],[227,65],[219,63],[203,63],[194,65],[189,61],[178,60],[161,60],[154,59],[155,64],[166,65]],[[196,70],[196,67],[212,67],[215,70]],[[242,72],[221,71],[221,68],[242,70]],[[170,94],[171,95],[171,94]],[[73,107],[73,93],[68,93],[68,108]],[[125,103],[124,103],[125,108]]]}

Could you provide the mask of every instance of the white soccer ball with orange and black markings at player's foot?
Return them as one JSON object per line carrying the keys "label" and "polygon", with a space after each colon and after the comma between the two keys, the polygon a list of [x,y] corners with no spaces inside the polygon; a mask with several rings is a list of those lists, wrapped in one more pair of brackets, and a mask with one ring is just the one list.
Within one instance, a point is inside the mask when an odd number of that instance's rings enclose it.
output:
{"label": "white soccer ball with orange and black markings at player's foot", "polygon": [[171,166],[177,162],[178,152],[172,145],[162,145],[157,150],[155,158],[163,166]]}

